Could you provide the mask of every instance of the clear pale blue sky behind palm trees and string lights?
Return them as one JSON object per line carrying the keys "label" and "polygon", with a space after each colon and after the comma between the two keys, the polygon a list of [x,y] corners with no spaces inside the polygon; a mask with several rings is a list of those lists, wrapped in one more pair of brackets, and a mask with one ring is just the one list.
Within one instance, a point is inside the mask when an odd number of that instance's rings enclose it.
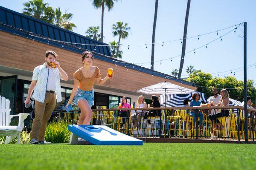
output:
{"label": "clear pale blue sky behind palm trees and string lights", "polygon": [[[15,3],[14,3],[15,2]],[[22,3],[26,0],[1,0],[0,5],[22,12]],[[76,23],[77,28],[73,31],[85,35],[85,31],[89,26],[101,25],[101,9],[96,10],[92,6],[90,0],[44,0],[49,6],[54,8],[61,7],[64,12],[70,12],[74,15],[72,22]],[[108,43],[112,40],[118,40],[111,34],[112,24],[116,21],[128,23],[131,27],[130,35],[127,39],[121,40],[121,44],[130,45],[123,46],[122,60],[131,63],[144,63],[143,66],[150,68],[150,64],[145,62],[151,61],[151,44],[152,28],[154,20],[154,0],[122,0],[115,3],[111,11],[105,11],[104,18],[104,42]],[[155,42],[171,41],[181,39],[183,37],[184,20],[186,14],[186,0],[159,0],[157,26],[155,34]],[[193,0],[190,5],[189,23],[187,37],[205,34],[211,31],[220,30],[241,22],[247,22],[247,65],[256,65],[256,1],[254,0]],[[235,28],[235,27],[233,27]],[[198,38],[192,38],[186,42],[186,52],[207,44],[221,35],[227,33],[233,28],[216,33],[208,34]],[[243,30],[243,27],[241,27]],[[243,34],[240,29],[222,37],[222,41],[217,40],[208,45],[207,48],[201,48],[185,55],[182,77],[186,77],[186,67],[193,65],[196,69],[204,72],[220,73],[221,77],[231,74],[236,68],[243,67],[243,39],[239,38],[239,34]],[[136,45],[143,44],[143,45]],[[162,43],[155,45],[155,61],[168,59],[181,54],[180,41]],[[179,69],[180,57],[176,57],[166,61],[156,62],[154,70],[166,74],[171,74],[175,68]],[[247,79],[253,79],[256,82],[256,66],[247,69]],[[236,72],[237,71],[237,72]],[[243,71],[238,69],[235,71],[235,77],[243,80]],[[233,71],[234,72],[234,71]]]}

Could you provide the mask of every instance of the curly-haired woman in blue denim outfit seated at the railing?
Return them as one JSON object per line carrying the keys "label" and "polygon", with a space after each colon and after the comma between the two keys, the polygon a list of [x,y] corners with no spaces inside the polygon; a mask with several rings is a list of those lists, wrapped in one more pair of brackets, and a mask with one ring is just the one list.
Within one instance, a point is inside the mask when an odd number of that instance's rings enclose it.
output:
{"label": "curly-haired woman in blue denim outfit seated at the railing", "polygon": [[[200,99],[200,94],[199,93],[194,93],[192,95],[192,101],[190,102],[190,107],[193,107],[193,106],[200,106],[202,102],[199,101]],[[195,126],[195,121],[196,121],[196,112],[197,112],[197,109],[190,109],[190,114],[189,116],[192,116],[194,119],[193,119],[193,125]],[[203,121],[204,121],[204,115],[203,113],[201,113],[201,111],[198,111],[198,117],[200,119],[200,129],[203,129]]]}

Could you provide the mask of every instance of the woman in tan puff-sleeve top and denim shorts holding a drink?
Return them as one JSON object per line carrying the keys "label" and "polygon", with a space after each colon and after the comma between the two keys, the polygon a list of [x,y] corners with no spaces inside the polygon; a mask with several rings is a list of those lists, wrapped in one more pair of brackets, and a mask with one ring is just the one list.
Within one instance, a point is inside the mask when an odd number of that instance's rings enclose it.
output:
{"label": "woman in tan puff-sleeve top and denim shorts holding a drink", "polygon": [[93,115],[91,107],[94,104],[93,84],[103,85],[111,78],[107,74],[104,79],[101,79],[99,68],[93,66],[93,58],[91,52],[84,51],[82,54],[82,62],[84,66],[79,68],[73,74],[74,85],[66,107],[71,105],[73,97],[75,96],[76,105],[78,105],[81,110],[77,125],[90,125]]}

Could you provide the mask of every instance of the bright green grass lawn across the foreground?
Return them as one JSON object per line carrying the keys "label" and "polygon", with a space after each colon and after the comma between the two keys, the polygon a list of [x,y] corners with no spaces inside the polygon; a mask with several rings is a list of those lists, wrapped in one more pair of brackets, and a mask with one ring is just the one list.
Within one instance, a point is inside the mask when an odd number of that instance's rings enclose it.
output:
{"label": "bright green grass lawn across the foreground", "polygon": [[256,169],[256,144],[1,144],[1,170]]}

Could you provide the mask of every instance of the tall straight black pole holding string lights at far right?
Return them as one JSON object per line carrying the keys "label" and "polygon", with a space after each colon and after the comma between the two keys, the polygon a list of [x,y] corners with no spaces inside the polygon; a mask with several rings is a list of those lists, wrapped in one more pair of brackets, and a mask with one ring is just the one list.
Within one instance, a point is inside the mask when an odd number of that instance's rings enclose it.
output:
{"label": "tall straight black pole holding string lights at far right", "polygon": [[244,138],[248,143],[248,112],[247,112],[247,59],[246,59],[247,23],[244,22]]}

